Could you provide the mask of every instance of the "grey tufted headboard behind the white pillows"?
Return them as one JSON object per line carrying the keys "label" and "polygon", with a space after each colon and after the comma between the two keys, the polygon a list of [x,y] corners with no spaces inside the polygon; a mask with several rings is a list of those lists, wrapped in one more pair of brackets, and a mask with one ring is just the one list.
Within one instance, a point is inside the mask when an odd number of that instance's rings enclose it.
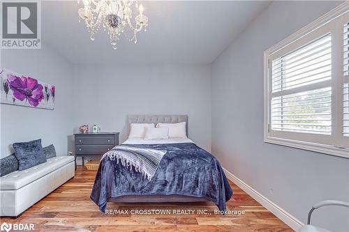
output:
{"label": "grey tufted headboard behind the white pillows", "polygon": [[131,123],[181,123],[186,122],[186,135],[188,136],[188,116],[187,115],[129,115],[128,133]]}

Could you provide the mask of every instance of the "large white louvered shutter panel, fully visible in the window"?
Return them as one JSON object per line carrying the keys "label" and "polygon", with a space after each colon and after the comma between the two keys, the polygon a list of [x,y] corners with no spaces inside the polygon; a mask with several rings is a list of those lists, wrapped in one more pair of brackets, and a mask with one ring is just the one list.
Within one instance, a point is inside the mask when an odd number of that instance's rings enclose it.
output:
{"label": "large white louvered shutter panel, fully visible in the window", "polygon": [[272,61],[272,130],[331,134],[331,60],[327,34]]}

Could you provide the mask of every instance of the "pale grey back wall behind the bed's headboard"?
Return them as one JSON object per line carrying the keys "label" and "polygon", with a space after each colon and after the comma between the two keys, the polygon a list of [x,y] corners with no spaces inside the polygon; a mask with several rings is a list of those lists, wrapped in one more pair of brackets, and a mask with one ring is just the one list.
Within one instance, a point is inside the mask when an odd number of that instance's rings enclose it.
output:
{"label": "pale grey back wall behind the bed's headboard", "polygon": [[74,127],[126,135],[128,114],[188,114],[188,134],[211,150],[211,65],[74,65]]}

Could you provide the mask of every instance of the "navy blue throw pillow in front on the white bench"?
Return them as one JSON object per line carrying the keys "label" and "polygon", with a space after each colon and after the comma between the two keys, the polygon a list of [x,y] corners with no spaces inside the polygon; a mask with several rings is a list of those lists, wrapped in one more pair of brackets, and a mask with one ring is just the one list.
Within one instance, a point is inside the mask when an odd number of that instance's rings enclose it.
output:
{"label": "navy blue throw pillow in front on the white bench", "polygon": [[15,149],[15,157],[18,160],[18,170],[20,171],[46,162],[41,139],[15,143],[12,146]]}

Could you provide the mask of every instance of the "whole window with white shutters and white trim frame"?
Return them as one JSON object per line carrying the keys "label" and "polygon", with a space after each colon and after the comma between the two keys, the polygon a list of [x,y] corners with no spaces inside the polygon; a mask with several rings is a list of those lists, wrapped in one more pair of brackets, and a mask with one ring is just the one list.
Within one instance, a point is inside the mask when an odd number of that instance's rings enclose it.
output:
{"label": "whole window with white shutters and white trim frame", "polygon": [[265,141],[349,157],[349,3],[265,51]]}

